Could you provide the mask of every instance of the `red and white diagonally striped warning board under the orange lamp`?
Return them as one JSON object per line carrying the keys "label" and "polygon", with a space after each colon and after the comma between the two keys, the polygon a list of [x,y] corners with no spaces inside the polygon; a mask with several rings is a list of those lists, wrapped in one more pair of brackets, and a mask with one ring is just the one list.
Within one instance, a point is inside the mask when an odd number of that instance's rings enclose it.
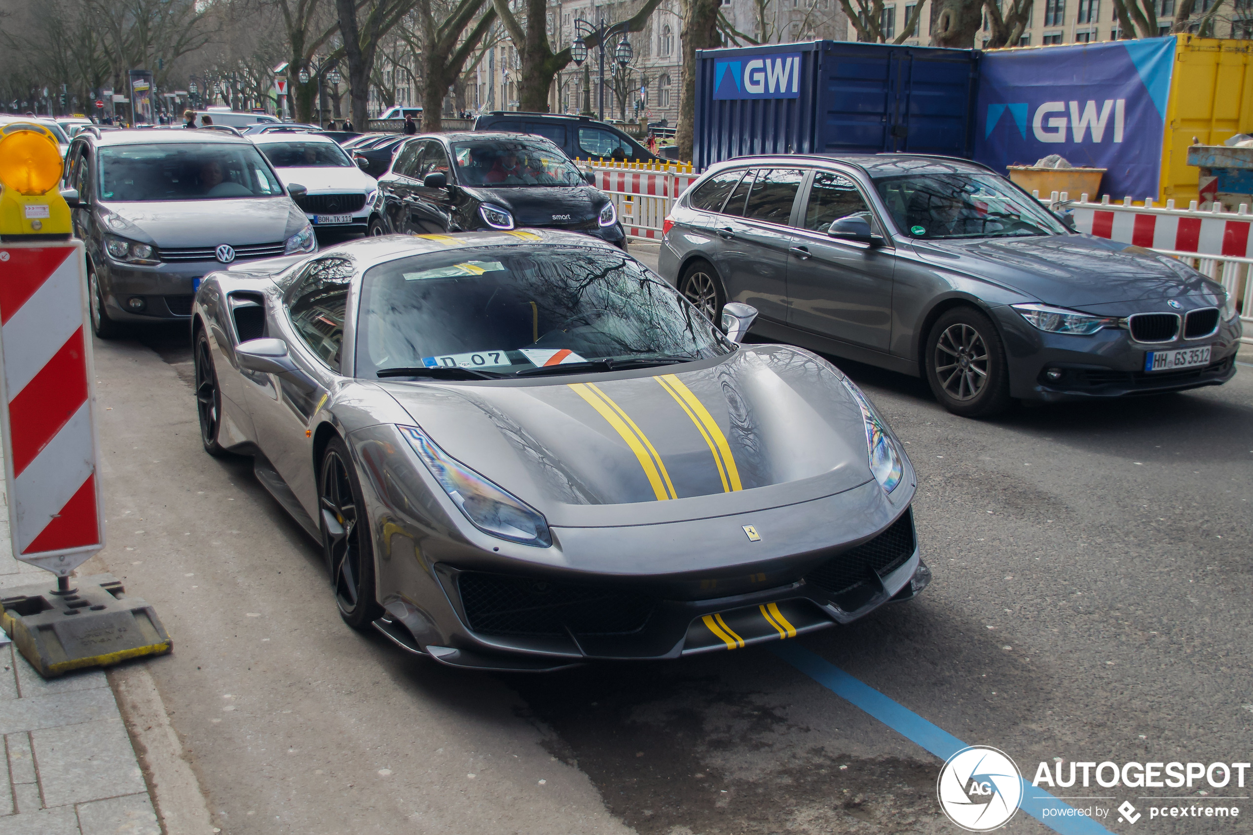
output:
{"label": "red and white diagonally striped warning board under the orange lamp", "polygon": [[66,576],[104,547],[83,243],[0,244],[0,426],[14,556]]}

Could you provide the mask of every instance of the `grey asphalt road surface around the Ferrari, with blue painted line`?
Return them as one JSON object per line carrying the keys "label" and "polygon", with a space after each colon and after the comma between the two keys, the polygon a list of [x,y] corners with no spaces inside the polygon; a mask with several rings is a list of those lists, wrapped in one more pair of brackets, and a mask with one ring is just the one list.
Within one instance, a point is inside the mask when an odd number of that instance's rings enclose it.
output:
{"label": "grey asphalt road surface around the Ferrari, with blue painted line", "polygon": [[[173,635],[152,674],[223,832],[959,831],[936,757],[768,650],[492,676],[355,633],[249,464],[202,452],[184,333],[95,352],[101,557]],[[1250,760],[1253,367],[976,422],[841,366],[907,444],[935,580],[802,646],[1027,779],[1054,757]],[[1105,824],[1248,831],[1239,805]]]}

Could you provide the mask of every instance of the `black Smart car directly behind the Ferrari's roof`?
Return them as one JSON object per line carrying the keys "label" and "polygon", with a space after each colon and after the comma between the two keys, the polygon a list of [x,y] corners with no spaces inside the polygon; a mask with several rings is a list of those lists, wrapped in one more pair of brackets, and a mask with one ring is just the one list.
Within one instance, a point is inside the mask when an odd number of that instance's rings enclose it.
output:
{"label": "black Smart car directly behind the Ferrari's roof", "polygon": [[378,200],[371,235],[545,227],[626,248],[609,197],[543,136],[415,136],[378,178]]}

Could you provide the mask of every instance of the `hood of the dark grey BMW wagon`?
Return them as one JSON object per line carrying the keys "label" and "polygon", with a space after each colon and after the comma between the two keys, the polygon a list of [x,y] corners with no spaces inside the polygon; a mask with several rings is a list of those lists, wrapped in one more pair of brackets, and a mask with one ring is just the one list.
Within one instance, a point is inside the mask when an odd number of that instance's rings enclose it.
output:
{"label": "hood of the dark grey BMW wagon", "polygon": [[916,240],[913,248],[922,259],[938,267],[979,275],[1045,304],[1069,308],[1215,289],[1213,282],[1169,255],[1091,235]]}

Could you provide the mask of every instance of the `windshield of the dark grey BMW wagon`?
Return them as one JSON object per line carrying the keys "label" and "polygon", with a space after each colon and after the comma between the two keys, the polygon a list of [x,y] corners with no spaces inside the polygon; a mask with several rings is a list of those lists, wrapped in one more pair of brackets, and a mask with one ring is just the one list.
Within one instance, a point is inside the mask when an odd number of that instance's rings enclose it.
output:
{"label": "windshield of the dark grey BMW wagon", "polygon": [[913,238],[1059,235],[1065,228],[995,174],[912,174],[875,180],[896,225]]}

